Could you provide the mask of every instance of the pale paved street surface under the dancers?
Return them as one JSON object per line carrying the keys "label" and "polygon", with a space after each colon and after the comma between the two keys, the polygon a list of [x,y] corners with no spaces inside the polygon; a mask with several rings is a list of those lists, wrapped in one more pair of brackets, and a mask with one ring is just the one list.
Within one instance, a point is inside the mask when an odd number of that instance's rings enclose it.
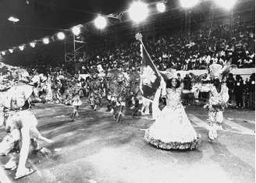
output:
{"label": "pale paved street surface under the dancers", "polygon": [[[251,183],[254,178],[254,111],[227,110],[219,140],[208,143],[206,111],[186,107],[190,121],[202,135],[202,146],[194,151],[158,150],[144,142],[143,128],[150,117],[112,121],[111,114],[92,111],[87,104],[80,119],[71,122],[72,107],[37,104],[36,114],[41,133],[55,141],[44,146],[51,157],[32,154],[28,167],[37,172],[14,181],[13,171],[3,171],[14,182],[197,182]],[[0,131],[0,138],[5,135]],[[5,164],[7,157],[0,157]]]}

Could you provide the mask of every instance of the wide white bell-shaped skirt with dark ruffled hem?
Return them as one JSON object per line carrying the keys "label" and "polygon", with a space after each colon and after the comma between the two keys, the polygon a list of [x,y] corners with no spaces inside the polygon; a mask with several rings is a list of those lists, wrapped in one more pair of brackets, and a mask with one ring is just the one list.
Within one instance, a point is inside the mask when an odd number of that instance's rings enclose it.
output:
{"label": "wide white bell-shaped skirt with dark ruffled hem", "polygon": [[182,104],[166,106],[155,123],[146,130],[144,139],[163,150],[194,150],[201,141]]}

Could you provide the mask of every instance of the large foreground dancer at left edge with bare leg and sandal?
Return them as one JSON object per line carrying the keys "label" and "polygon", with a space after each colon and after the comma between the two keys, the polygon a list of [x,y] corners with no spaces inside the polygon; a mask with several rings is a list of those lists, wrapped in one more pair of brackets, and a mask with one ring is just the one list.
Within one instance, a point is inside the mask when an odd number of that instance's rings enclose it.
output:
{"label": "large foreground dancer at left edge with bare leg and sandal", "polygon": [[[27,102],[32,92],[33,88],[31,86],[18,83],[9,90],[2,92],[0,98],[0,104],[2,106],[2,121],[0,122],[5,126],[5,131],[9,133],[5,141],[0,144],[0,151],[2,151],[2,154],[9,153],[6,150],[12,150],[16,143],[19,144],[19,142],[21,142],[22,144],[15,179],[23,178],[24,176],[34,173],[33,169],[25,167],[30,149],[30,141],[35,145],[34,147],[37,150],[42,150],[41,146],[38,144],[38,139],[52,143],[50,139],[44,138],[36,128],[37,118],[35,118],[34,114],[29,110]],[[15,169],[16,161],[11,158],[4,167]]]}

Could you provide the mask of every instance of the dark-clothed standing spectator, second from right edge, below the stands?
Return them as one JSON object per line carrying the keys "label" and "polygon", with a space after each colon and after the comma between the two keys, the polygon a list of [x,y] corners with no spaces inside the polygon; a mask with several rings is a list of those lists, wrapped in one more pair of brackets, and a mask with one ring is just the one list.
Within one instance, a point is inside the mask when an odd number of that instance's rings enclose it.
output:
{"label": "dark-clothed standing spectator, second from right edge, below the stands", "polygon": [[240,75],[236,75],[234,93],[236,97],[236,108],[244,107],[244,102],[243,102],[244,81]]}

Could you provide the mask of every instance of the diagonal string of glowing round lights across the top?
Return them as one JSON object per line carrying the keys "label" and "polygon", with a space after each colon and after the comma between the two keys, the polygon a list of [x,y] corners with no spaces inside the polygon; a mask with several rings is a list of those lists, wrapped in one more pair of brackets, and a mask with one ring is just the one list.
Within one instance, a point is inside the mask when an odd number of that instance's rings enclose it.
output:
{"label": "diagonal string of glowing round lights across the top", "polygon": [[[201,1],[203,1],[203,0],[180,0],[180,6],[183,9],[191,9],[195,5],[198,5]],[[214,2],[216,3],[216,5],[219,5],[222,8],[227,9],[227,10],[232,9],[233,6],[236,4],[236,0],[226,0],[226,1],[214,0]],[[162,13],[162,12],[166,11],[165,4],[166,4],[166,1],[154,3],[155,9],[157,10],[158,13]],[[135,1],[130,5],[130,8],[125,12],[128,12],[130,19],[133,20],[134,23],[141,23],[145,19],[147,19],[150,14],[152,14],[150,9],[148,8],[148,6],[149,6],[149,4],[147,4],[145,2]],[[97,14],[97,13],[95,13],[95,14]],[[122,14],[122,13],[119,13],[119,14]],[[97,14],[97,15],[98,16],[91,22],[93,22],[94,26],[96,28],[98,28],[99,30],[103,30],[103,29],[105,29],[106,26],[108,26],[108,18],[116,18],[116,19],[119,18],[118,16],[117,17],[113,16],[113,14],[110,14],[108,16],[100,15],[100,14]],[[16,18],[15,18],[15,20],[17,22]],[[88,23],[91,23],[91,22],[88,22]],[[24,51],[25,48],[28,48],[28,47],[35,48],[38,43],[50,44],[51,41],[65,40],[66,33],[68,33],[68,32],[71,32],[71,33],[73,33],[74,36],[78,37],[81,33],[82,28],[84,28],[84,26],[86,26],[86,25],[87,25],[87,23],[76,25],[76,26],[73,26],[66,30],[61,30],[61,32],[55,33],[53,36],[43,37],[39,40],[33,40],[28,44],[21,44],[20,46],[16,46],[16,47],[12,47],[12,48],[8,48],[6,50],[0,51],[0,54],[2,56],[4,56],[6,54],[12,54],[16,50]],[[55,38],[57,38],[57,39],[55,39]]]}

